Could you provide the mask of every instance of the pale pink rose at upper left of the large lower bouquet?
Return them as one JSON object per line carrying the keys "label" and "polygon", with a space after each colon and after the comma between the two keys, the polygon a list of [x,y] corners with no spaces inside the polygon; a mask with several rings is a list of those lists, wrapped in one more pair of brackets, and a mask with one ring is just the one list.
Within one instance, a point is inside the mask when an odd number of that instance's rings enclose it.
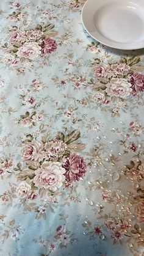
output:
{"label": "pale pink rose at upper left of the large lower bouquet", "polygon": [[42,142],[27,144],[22,150],[23,161],[41,161],[45,158],[45,150]]}

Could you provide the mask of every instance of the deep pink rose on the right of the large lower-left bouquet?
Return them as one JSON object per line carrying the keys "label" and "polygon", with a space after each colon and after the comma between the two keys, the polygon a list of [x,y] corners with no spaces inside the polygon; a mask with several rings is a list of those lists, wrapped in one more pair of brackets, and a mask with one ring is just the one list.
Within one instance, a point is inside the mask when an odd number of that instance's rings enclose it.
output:
{"label": "deep pink rose on the right of the large lower-left bouquet", "polygon": [[67,181],[79,180],[86,172],[86,164],[82,156],[71,154],[68,158],[65,159],[63,164],[65,168],[65,177]]}

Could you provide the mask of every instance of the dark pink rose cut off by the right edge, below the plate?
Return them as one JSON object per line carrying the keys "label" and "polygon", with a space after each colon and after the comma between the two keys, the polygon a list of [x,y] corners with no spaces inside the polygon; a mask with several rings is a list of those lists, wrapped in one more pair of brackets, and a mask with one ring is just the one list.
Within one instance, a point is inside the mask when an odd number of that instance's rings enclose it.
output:
{"label": "dark pink rose cut off by the right edge, below the plate", "polygon": [[133,92],[143,92],[144,91],[144,76],[140,73],[134,73],[130,76],[129,82],[131,83],[131,88]]}

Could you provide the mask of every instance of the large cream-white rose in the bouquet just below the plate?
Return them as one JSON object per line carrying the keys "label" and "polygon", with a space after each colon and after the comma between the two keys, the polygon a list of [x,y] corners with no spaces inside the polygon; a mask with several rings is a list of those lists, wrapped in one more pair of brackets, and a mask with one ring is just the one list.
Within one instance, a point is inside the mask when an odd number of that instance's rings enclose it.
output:
{"label": "large cream-white rose in the bouquet just below the plate", "polygon": [[132,92],[131,84],[124,78],[112,78],[106,87],[107,94],[115,97],[126,98]]}

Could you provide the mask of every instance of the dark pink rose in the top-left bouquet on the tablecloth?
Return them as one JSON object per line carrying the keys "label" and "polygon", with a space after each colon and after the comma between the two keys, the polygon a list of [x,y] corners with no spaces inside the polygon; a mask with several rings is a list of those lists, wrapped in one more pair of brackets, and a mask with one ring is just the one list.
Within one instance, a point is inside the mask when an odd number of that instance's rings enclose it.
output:
{"label": "dark pink rose in the top-left bouquet on the tablecloth", "polygon": [[56,40],[51,39],[49,37],[42,39],[39,45],[41,46],[42,54],[52,53],[52,51],[56,51],[56,49],[57,49]]}

